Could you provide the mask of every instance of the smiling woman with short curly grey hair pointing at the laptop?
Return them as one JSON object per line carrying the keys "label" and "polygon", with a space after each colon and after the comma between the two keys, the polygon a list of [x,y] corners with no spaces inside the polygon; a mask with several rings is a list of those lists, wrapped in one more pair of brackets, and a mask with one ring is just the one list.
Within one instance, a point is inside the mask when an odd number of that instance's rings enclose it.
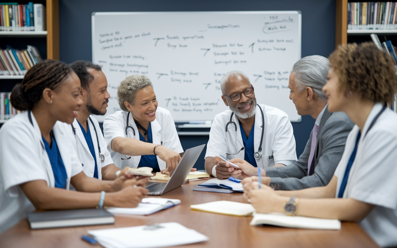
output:
{"label": "smiling woman with short curly grey hair pointing at the laptop", "polygon": [[117,88],[122,109],[108,115],[104,136],[114,164],[124,167],[152,167],[153,172],[172,174],[183,149],[171,113],[158,107],[150,80],[133,75]]}

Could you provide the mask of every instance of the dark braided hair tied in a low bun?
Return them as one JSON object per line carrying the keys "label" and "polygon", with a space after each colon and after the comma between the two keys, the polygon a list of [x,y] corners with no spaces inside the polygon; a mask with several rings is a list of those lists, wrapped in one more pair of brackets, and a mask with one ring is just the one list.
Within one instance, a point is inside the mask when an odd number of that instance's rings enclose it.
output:
{"label": "dark braided hair tied in a low bun", "polygon": [[20,111],[31,110],[42,97],[43,90],[54,90],[73,71],[69,65],[56,60],[44,60],[33,65],[22,83],[12,89],[10,102]]}

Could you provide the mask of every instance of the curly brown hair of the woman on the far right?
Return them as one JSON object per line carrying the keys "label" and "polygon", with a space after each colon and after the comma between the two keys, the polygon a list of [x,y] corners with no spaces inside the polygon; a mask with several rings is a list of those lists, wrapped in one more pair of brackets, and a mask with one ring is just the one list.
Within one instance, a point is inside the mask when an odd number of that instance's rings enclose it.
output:
{"label": "curly brown hair of the woman on the far right", "polygon": [[339,46],[328,59],[338,75],[340,90],[357,92],[374,102],[393,100],[396,68],[390,56],[373,42]]}

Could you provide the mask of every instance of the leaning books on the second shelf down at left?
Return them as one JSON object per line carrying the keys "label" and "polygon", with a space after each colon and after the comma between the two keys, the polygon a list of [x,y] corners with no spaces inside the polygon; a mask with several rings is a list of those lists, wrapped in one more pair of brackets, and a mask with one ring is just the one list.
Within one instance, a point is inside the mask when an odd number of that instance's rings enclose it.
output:
{"label": "leaning books on the second shelf down at left", "polygon": [[27,70],[42,60],[35,46],[27,46],[25,50],[6,46],[6,49],[0,49],[0,75],[25,75]]}

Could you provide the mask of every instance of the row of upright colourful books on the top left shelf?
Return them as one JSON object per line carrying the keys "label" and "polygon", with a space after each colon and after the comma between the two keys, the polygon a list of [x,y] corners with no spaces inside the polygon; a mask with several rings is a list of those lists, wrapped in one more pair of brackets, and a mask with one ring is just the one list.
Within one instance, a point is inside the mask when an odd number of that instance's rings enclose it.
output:
{"label": "row of upright colourful books on the top left shelf", "polygon": [[0,4],[0,31],[45,31],[46,7],[42,4]]}

